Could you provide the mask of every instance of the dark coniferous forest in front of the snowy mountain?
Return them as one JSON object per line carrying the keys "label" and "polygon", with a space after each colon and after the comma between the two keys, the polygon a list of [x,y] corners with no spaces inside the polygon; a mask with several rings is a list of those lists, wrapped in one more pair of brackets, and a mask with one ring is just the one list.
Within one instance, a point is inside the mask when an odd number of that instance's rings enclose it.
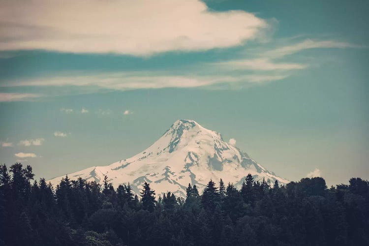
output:
{"label": "dark coniferous forest in front of the snowy mountain", "polygon": [[67,176],[53,187],[34,180],[31,166],[0,169],[0,245],[50,246],[320,246],[369,245],[369,182],[327,188],[322,178],[286,186],[242,188],[209,181],[202,194],[141,195]]}

